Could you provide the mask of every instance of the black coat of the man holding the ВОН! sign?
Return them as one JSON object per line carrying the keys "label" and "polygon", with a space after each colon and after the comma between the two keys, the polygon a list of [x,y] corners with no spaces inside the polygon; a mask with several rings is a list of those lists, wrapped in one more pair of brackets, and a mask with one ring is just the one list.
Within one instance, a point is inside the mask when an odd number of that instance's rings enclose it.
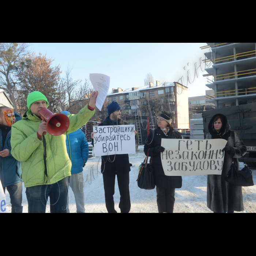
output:
{"label": "black coat of the man holding the \u0412\u041e\u041d! sign", "polygon": [[[103,121],[103,123],[99,124],[98,126],[106,126],[106,125],[113,125],[110,120],[109,116]],[[123,119],[118,120],[118,125],[128,125],[128,123],[124,122]],[[94,146],[93,140],[92,144]],[[112,162],[114,160],[114,162]],[[104,165],[105,162],[105,165]],[[122,173],[128,173],[131,171],[130,162],[129,162],[129,155],[103,155],[102,156],[102,163],[101,163],[101,173],[106,175],[116,175]]]}

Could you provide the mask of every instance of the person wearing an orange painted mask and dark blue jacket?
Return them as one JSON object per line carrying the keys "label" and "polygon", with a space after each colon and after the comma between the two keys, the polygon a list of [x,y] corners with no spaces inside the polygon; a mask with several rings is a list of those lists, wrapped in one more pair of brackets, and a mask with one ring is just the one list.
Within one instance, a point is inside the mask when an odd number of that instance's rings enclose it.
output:
{"label": "person wearing an orange painted mask and dark blue jacket", "polygon": [[0,180],[9,192],[12,213],[22,213],[21,165],[11,154],[11,128],[15,121],[21,120],[13,109],[0,107]]}

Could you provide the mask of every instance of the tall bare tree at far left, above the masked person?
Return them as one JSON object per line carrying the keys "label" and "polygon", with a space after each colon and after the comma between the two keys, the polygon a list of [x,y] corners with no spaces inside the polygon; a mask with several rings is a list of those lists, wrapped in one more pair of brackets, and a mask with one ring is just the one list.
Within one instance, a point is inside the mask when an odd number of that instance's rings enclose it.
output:
{"label": "tall bare tree at far left, above the masked person", "polygon": [[0,43],[0,89],[5,90],[14,103],[14,110],[18,112],[15,103],[15,90],[19,83],[16,74],[29,48],[27,43]]}

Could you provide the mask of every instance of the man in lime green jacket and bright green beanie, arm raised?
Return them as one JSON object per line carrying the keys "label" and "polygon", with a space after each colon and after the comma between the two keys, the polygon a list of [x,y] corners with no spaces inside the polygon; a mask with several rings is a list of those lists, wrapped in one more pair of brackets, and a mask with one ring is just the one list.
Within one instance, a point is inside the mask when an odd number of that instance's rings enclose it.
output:
{"label": "man in lime green jacket and bright green beanie, arm raised", "polygon": [[22,120],[12,125],[11,154],[22,162],[22,179],[26,188],[29,212],[45,212],[50,197],[50,212],[67,212],[68,182],[71,161],[65,144],[66,134],[86,124],[94,115],[98,92],[91,94],[90,103],[76,115],[69,115],[70,125],[63,135],[52,136],[46,131],[40,109],[48,108],[44,94],[34,91],[27,97],[28,110]]}

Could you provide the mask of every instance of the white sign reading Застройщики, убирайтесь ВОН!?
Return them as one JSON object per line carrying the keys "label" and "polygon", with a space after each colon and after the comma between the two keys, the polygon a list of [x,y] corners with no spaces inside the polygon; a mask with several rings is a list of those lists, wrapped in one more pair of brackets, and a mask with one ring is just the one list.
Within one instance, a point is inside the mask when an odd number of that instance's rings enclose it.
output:
{"label": "white sign reading \u0417\u0430\u0441\u0442\u0440\u043e\u0439\u0449\u0438\u043a\u0438, \u0443\u0431\u0438\u0440\u0430\u0439\u0442\u0435\u0441\u044c \u0412\u041e\u041d!", "polygon": [[134,125],[94,126],[94,155],[134,154]]}

